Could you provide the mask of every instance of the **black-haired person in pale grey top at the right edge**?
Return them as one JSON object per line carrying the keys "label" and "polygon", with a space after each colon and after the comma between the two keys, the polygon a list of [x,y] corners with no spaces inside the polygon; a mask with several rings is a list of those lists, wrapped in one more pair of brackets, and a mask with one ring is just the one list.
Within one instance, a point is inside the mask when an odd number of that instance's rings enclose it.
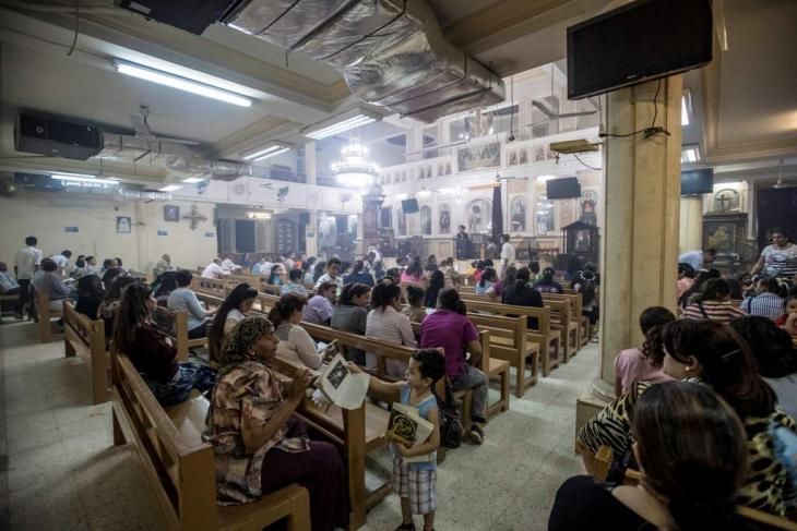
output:
{"label": "black-haired person in pale grey top at the right edge", "polygon": [[792,336],[766,317],[740,317],[730,322],[750,346],[756,366],[777,397],[777,407],[797,419],[797,350]]}

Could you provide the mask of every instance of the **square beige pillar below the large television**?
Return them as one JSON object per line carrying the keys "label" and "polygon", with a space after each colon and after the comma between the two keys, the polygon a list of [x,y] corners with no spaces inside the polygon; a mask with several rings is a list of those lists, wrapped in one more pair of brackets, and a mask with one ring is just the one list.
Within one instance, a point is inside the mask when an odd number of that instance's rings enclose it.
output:
{"label": "square beige pillar below the large television", "polygon": [[[657,111],[654,96],[658,90]],[[600,382],[614,388],[617,353],[641,345],[639,315],[675,311],[680,207],[682,80],[675,75],[610,93],[607,132],[655,125],[670,134],[606,138],[606,225],[600,249]],[[612,393],[614,394],[614,393]]]}

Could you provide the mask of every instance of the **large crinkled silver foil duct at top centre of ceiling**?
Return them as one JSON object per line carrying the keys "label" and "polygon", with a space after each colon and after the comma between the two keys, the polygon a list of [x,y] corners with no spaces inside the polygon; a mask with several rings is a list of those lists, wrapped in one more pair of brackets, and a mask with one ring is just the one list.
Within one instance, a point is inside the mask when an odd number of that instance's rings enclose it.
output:
{"label": "large crinkled silver foil duct at top centre of ceiling", "polygon": [[423,122],[505,99],[503,81],[445,40],[425,0],[249,0],[223,22],[336,68],[355,96]]}

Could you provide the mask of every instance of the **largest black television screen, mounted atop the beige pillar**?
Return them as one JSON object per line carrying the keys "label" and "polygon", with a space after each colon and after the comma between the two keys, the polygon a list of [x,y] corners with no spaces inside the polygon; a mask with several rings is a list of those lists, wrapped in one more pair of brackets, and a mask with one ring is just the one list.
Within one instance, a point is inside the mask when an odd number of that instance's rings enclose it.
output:
{"label": "largest black television screen, mounted atop the beige pillar", "polygon": [[707,64],[710,0],[637,0],[568,28],[568,98]]}

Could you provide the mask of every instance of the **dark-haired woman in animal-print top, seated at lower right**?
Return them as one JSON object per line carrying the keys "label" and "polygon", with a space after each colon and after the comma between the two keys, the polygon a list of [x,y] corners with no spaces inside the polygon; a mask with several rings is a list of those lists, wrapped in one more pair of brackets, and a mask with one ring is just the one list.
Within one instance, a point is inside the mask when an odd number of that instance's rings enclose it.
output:
{"label": "dark-haired woman in animal-print top, seated at lower right", "polygon": [[[654,364],[663,364],[664,372],[676,379],[711,387],[741,419],[750,469],[737,493],[737,503],[786,516],[794,509],[794,485],[787,469],[774,456],[770,429],[795,431],[797,423],[776,408],[775,393],[759,374],[747,342],[728,325],[709,319],[667,323],[651,342],[647,355]],[[576,448],[587,471],[594,469],[599,446],[610,447],[616,461],[632,459],[632,417],[640,397],[652,387],[655,385],[637,382],[581,427]]]}

